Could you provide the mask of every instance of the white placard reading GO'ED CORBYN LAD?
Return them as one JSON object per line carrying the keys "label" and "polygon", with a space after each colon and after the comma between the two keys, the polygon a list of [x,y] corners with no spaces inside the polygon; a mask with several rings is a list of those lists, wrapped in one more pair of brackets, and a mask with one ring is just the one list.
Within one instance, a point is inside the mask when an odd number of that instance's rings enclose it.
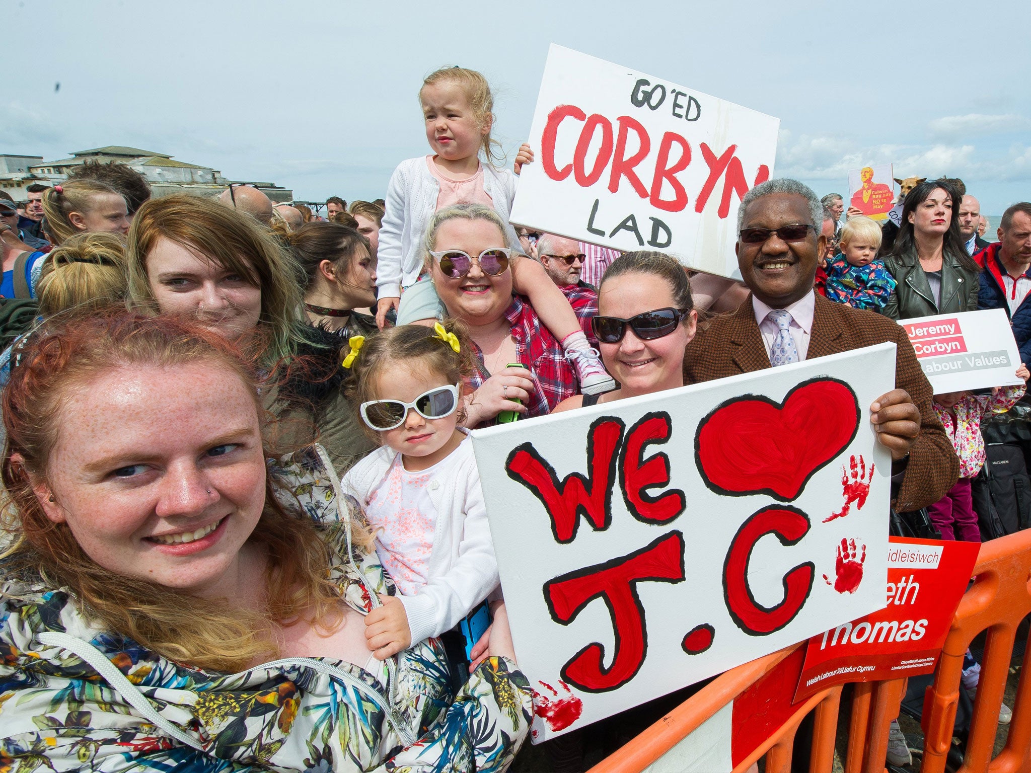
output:
{"label": "white placard reading GO'ED CORBYN LAD", "polygon": [[740,278],[737,207],[779,119],[553,44],[511,222]]}

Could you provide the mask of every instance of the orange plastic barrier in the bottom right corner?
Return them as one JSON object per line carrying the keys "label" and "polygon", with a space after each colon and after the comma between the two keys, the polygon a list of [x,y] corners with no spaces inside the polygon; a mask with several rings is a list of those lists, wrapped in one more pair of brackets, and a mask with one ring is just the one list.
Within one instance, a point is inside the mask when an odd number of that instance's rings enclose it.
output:
{"label": "orange plastic barrier in the bottom right corner", "polygon": [[[961,773],[1031,773],[1031,697],[1028,696],[1031,682],[1024,678],[1023,672],[1006,744],[992,760],[999,707],[1017,628],[1024,617],[1031,614],[1031,530],[982,545],[973,577],[974,582],[960,602],[945,639],[935,680],[925,696],[922,722],[925,745],[921,771],[943,773],[945,770],[959,703],[963,656],[973,638],[986,631],[980,683]],[[590,773],[636,773],[652,765],[656,765],[656,770],[675,769],[678,744],[686,742],[692,733],[721,710],[747,696],[749,691],[754,691],[763,679],[769,679],[778,669],[785,671],[793,660],[800,662],[803,646],[804,643],[788,647],[722,674],[596,765]],[[905,679],[854,685],[845,773],[882,773],[885,770],[888,728],[899,714],[905,685]],[[754,744],[754,748],[749,747],[747,753],[735,748],[734,773],[743,773],[764,754],[769,773],[787,773],[791,768],[795,733],[810,712],[814,714],[814,727],[809,770],[810,773],[830,773],[840,696],[839,685],[829,687],[798,706],[786,703],[790,697],[771,697],[767,703],[772,707],[771,714],[775,721],[761,715],[762,706],[757,708],[754,703],[750,704],[750,712],[756,712],[758,717],[755,724],[763,729],[768,727],[769,732]]]}

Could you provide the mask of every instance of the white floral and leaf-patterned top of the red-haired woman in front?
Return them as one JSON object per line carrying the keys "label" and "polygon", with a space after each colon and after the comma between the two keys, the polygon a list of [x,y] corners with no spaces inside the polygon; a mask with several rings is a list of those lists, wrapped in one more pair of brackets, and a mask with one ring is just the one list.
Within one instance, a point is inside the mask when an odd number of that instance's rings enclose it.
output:
{"label": "white floral and leaf-patterned top of the red-haired woman in front", "polygon": [[[346,504],[319,451],[273,469],[277,497],[320,525],[341,598],[367,613],[376,593],[393,586],[374,553],[348,548]],[[62,634],[92,644],[128,680],[104,678],[55,645]],[[386,685],[359,666],[323,658],[205,672],[97,630],[65,589],[6,576],[0,771],[505,770],[533,715],[526,678],[510,661],[491,658],[455,695],[447,668],[439,642],[428,639],[387,663],[378,675]]]}

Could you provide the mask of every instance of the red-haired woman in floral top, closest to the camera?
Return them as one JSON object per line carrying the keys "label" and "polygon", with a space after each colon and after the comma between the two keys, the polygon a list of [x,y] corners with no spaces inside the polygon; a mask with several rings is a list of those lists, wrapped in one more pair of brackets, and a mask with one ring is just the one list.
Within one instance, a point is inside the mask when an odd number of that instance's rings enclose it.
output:
{"label": "red-haired woman in floral top, closest to the camera", "polygon": [[232,343],[123,310],[47,322],[22,352],[2,398],[8,765],[507,767],[533,708],[504,606],[457,694],[436,640],[373,657],[365,618],[393,587],[371,539],[321,447],[267,464]]}

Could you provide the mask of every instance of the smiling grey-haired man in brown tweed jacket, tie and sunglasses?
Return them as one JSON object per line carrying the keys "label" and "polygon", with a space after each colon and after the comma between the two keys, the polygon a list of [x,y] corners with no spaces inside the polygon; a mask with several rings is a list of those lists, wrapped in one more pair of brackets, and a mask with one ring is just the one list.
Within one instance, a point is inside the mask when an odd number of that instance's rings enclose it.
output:
{"label": "smiling grey-haired man in brown tweed jacket, tie and sunglasses", "polygon": [[892,341],[895,386],[870,406],[877,440],[892,453],[900,481],[895,507],[937,502],[959,476],[959,460],[931,407],[931,384],[905,331],[891,320],[832,303],[812,289],[822,205],[792,179],[752,189],[738,212],[737,263],[752,295],[732,313],[714,317],[688,345],[686,383],[698,383]]}

